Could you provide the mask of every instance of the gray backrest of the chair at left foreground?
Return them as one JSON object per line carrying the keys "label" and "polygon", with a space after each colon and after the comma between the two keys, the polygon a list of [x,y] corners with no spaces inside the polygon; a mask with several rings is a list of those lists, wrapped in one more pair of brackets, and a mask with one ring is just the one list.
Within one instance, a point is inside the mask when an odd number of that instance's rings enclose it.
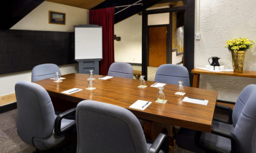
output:
{"label": "gray backrest of the chair at left foreground", "polygon": [[33,138],[48,138],[54,129],[54,108],[47,91],[31,82],[15,85],[17,99],[17,133],[24,142],[33,146]]}

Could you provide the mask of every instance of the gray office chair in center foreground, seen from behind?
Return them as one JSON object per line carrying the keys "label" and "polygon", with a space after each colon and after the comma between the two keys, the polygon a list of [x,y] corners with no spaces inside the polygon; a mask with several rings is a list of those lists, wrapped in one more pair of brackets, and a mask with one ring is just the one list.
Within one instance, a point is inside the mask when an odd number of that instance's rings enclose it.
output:
{"label": "gray office chair in center foreground, seen from behind", "polygon": [[146,143],[136,116],[122,107],[93,100],[77,105],[77,152],[168,152],[167,136]]}

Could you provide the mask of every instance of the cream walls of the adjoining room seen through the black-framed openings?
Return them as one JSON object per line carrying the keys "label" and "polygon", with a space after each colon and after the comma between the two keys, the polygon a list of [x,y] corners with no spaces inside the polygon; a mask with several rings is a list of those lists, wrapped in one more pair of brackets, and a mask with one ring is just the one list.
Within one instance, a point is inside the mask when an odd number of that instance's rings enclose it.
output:
{"label": "cream walls of the adjoining room seen through the black-framed openings", "polygon": [[[168,8],[155,7],[152,9]],[[148,25],[169,24],[169,13],[148,15]],[[115,62],[141,63],[142,60],[142,15],[135,14],[114,26],[114,33],[121,41],[114,41]],[[173,53],[173,64],[181,62],[181,57]]]}

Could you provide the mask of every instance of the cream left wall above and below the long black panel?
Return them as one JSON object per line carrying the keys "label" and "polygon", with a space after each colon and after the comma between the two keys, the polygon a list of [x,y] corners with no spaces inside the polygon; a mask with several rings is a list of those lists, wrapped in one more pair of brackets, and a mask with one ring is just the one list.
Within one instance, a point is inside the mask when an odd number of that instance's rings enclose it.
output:
{"label": "cream left wall above and below the long black panel", "polygon": [[[49,24],[49,10],[66,13],[66,25]],[[45,1],[11,29],[73,32],[73,25],[88,23],[89,10]],[[78,71],[78,64],[59,67],[62,75]],[[31,71],[0,75],[0,96],[14,93],[14,85],[18,81],[31,81]]]}

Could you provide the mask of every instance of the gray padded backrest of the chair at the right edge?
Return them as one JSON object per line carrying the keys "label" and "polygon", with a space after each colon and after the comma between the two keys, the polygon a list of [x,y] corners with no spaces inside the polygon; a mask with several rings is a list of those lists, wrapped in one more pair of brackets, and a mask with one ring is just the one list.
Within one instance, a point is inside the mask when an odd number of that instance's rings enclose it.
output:
{"label": "gray padded backrest of the chair at the right edge", "polygon": [[256,85],[248,85],[240,93],[232,121],[240,152],[256,152]]}

